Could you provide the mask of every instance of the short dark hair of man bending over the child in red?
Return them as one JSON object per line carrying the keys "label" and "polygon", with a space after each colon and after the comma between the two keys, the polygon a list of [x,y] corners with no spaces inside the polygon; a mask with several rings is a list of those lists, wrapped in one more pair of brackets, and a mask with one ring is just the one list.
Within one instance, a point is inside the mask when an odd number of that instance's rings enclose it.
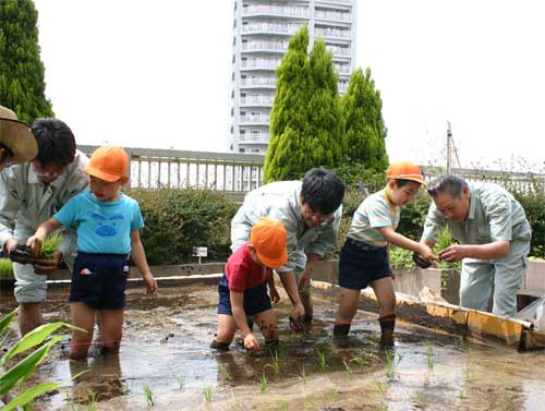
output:
{"label": "short dark hair of man bending over the child in red", "polygon": [[331,170],[313,168],[303,179],[302,203],[322,214],[332,214],[342,204],[344,183]]}

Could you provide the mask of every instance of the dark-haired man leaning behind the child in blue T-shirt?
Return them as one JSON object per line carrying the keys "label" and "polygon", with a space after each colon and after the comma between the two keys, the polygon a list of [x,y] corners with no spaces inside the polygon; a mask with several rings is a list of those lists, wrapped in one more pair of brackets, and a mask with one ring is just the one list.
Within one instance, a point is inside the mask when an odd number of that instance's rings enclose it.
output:
{"label": "dark-haired man leaning behind the child in blue T-shirt", "polygon": [[[88,185],[83,171],[88,160],[76,150],[74,135],[64,122],[38,119],[32,132],[38,146],[37,156],[0,174],[0,246],[15,261],[24,254],[21,245],[39,225]],[[13,263],[22,335],[44,323],[41,303],[46,300],[47,274],[56,270],[61,259],[69,265],[73,262],[74,232],[65,230],[62,234],[52,259],[40,259],[34,265]]]}

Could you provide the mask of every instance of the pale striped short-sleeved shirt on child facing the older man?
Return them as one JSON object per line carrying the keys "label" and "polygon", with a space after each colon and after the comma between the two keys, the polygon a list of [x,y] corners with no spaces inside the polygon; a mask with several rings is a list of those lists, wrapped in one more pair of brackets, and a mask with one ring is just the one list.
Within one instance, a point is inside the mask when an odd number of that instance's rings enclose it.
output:
{"label": "pale striped short-sleeved shirt on child facing the older man", "polygon": [[396,230],[400,211],[401,207],[391,204],[386,191],[380,190],[360,204],[352,217],[348,237],[370,245],[386,246],[387,241],[377,228],[392,227]]}

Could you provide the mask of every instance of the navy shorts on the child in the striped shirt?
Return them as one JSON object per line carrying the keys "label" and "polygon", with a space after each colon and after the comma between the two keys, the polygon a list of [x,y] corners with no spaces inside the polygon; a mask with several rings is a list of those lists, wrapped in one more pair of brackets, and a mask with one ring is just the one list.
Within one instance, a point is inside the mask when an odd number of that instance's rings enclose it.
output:
{"label": "navy shorts on the child in the striped shirt", "polygon": [[339,286],[362,290],[370,282],[391,276],[386,246],[348,238],[339,258]]}

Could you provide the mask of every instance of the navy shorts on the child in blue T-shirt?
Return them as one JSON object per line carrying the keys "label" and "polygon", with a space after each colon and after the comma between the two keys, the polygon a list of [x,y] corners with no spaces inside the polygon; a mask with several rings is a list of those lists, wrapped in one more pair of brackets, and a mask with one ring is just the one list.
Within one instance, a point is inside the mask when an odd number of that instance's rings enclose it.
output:
{"label": "navy shorts on the child in blue T-shirt", "polygon": [[77,253],[72,271],[70,302],[83,302],[94,310],[125,306],[129,263],[126,254]]}

